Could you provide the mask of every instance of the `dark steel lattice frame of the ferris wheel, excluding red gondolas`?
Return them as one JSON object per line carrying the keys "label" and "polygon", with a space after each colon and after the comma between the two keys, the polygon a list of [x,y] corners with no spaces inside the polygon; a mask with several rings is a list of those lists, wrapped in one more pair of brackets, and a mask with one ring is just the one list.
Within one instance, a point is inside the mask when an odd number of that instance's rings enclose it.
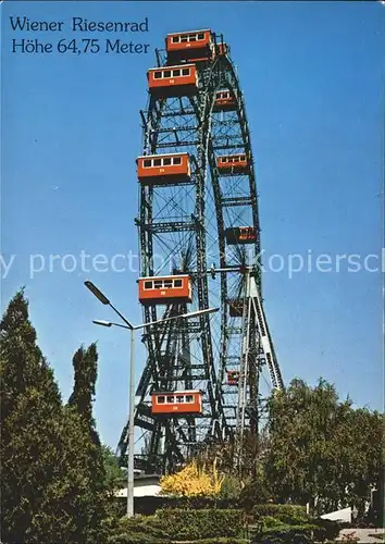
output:
{"label": "dark steel lattice frame of the ferris wheel, excluding red gondolas", "polygon": [[[223,45],[222,36],[214,36],[214,40]],[[158,66],[166,66],[162,51],[157,50],[156,55]],[[142,156],[187,151],[191,160],[190,181],[170,186],[169,200],[162,200],[163,186],[139,187],[139,214],[135,223],[140,245],[140,275],[159,273],[154,262],[157,248],[166,248],[165,254],[171,251],[165,255],[171,269],[178,250],[182,257],[174,268],[178,273],[192,276],[197,309],[210,306],[209,277],[212,283],[219,277],[215,296],[221,309],[215,350],[213,325],[208,316],[195,321],[175,319],[159,323],[147,327],[144,335],[148,358],[136,393],[140,400],[135,410],[135,425],[149,431],[150,440],[146,454],[136,456],[136,463],[145,470],[161,472],[175,470],[212,441],[234,437],[240,444],[246,429],[258,432],[259,380],[263,368],[269,370],[273,388],[284,386],[261,297],[257,184],[243,92],[228,52],[196,66],[198,91],[195,96],[150,95],[147,109],[140,112]],[[231,91],[236,104],[232,111],[215,112],[215,96],[223,89]],[[223,152],[245,153],[250,166],[248,173],[239,176],[234,172],[220,172],[216,159]],[[208,210],[210,202],[212,209]],[[171,215],[170,210],[175,211],[175,215]],[[208,218],[208,211],[214,215],[214,222]],[[245,246],[229,248],[226,243],[225,230],[238,226],[236,221],[248,221],[257,233],[248,252]],[[214,247],[215,236],[218,264],[212,263],[210,268],[208,248]],[[170,240],[174,243],[171,249]],[[234,293],[243,304],[241,318],[229,317]],[[145,306],[145,321],[188,310],[186,304],[177,304],[163,307],[161,314],[159,311],[156,305]],[[226,370],[235,367],[239,370],[239,383],[234,391],[226,384],[225,375]],[[197,383],[204,391],[203,417],[163,420],[152,417],[148,401],[151,391],[176,391],[177,384],[191,390]],[[119,444],[121,458],[126,454],[127,426]]]}

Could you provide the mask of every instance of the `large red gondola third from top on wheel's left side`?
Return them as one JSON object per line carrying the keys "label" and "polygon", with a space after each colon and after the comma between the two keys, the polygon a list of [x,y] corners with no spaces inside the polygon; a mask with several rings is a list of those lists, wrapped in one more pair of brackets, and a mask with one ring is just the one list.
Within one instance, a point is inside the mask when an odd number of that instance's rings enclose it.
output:
{"label": "large red gondola third from top on wheel's left side", "polygon": [[148,154],[138,157],[137,174],[144,185],[166,185],[190,181],[188,153]]}

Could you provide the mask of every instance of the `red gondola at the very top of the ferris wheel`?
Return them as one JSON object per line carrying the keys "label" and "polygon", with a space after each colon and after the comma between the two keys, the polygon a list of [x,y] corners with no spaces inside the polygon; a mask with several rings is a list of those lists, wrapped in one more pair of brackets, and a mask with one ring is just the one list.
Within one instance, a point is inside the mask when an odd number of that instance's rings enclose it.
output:
{"label": "red gondola at the very top of the ferris wheel", "polygon": [[169,63],[209,61],[214,53],[211,30],[167,34],[165,49]]}

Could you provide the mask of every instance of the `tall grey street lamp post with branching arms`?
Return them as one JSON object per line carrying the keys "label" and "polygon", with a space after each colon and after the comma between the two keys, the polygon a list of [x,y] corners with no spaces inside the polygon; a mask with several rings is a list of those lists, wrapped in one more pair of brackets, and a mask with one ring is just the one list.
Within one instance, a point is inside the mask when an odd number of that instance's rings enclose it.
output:
{"label": "tall grey street lamp post with branching arms", "polygon": [[139,329],[146,329],[147,326],[156,325],[158,323],[164,323],[165,321],[172,321],[175,319],[189,319],[199,317],[206,313],[212,313],[219,310],[219,308],[207,308],[206,310],[191,311],[189,313],[183,313],[182,316],[173,316],[171,318],[159,319],[157,321],[150,321],[149,323],[141,323],[140,325],[133,325],[110,302],[101,290],[98,289],[94,283],[86,281],[85,286],[95,295],[100,302],[105,306],[110,306],[113,311],[122,319],[125,323],[113,323],[111,321],[94,320],[94,323],[102,326],[121,326],[122,329],[128,329],[131,333],[131,356],[129,356],[129,416],[128,416],[128,456],[127,456],[127,517],[132,518],[134,516],[134,418],[135,418],[135,331]]}

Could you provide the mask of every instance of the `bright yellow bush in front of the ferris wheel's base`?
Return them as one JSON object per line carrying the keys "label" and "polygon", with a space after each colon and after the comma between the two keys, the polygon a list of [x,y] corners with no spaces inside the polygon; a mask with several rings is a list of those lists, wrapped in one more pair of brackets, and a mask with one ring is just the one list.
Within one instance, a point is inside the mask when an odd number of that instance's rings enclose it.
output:
{"label": "bright yellow bush in front of the ferris wheel's base", "polygon": [[219,474],[215,463],[211,468],[199,468],[196,461],[191,461],[179,472],[160,480],[162,493],[188,497],[219,495],[222,483],[223,477]]}

